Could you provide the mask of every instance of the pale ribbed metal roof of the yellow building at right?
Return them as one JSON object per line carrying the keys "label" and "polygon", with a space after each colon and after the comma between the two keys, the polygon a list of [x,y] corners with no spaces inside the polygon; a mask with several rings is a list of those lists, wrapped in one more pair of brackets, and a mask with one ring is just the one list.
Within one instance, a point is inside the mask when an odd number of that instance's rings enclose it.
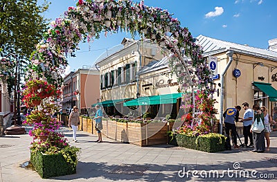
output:
{"label": "pale ribbed metal roof of the yellow building at right", "polygon": [[242,44],[235,44],[232,42],[226,42],[219,39],[213,39],[204,35],[196,37],[196,44],[202,46],[204,55],[213,55],[216,53],[222,53],[226,51],[234,51],[242,53],[244,55],[252,55],[254,57],[264,58],[266,60],[277,61],[277,52],[269,51],[267,49],[255,48]]}

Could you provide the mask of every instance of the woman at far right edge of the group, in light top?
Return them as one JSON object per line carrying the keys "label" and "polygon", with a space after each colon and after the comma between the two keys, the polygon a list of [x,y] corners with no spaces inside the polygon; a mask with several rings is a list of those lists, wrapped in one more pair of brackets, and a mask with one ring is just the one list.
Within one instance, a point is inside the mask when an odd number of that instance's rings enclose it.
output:
{"label": "woman at far right edge of the group, in light top", "polygon": [[276,122],[272,120],[272,117],[267,113],[267,107],[262,106],[260,108],[260,111],[264,113],[264,118],[265,118],[265,138],[267,139],[267,149],[266,151],[269,151],[269,145],[270,145],[270,139],[269,139],[269,134],[271,132],[271,125],[274,125]]}

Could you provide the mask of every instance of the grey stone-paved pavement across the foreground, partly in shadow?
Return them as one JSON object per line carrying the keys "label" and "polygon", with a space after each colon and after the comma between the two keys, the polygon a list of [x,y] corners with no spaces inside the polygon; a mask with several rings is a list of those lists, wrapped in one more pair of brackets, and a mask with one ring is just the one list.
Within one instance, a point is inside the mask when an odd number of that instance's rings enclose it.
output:
{"label": "grey stone-paved pavement across the foreground, partly in shadow", "polygon": [[[26,130],[28,129],[30,128],[26,127]],[[270,152],[253,153],[251,148],[241,148],[215,154],[170,145],[139,147],[109,138],[103,138],[103,143],[95,143],[97,136],[84,131],[78,131],[78,143],[73,143],[71,130],[64,127],[61,131],[69,138],[71,145],[81,148],[76,174],[41,179],[37,172],[21,167],[21,164],[30,160],[28,146],[32,138],[28,134],[3,136],[0,137],[0,182],[276,181],[277,179],[277,131],[271,133]],[[238,167],[237,170],[233,168],[234,166]],[[242,174],[247,172],[249,178],[243,177]],[[256,177],[251,176],[251,172]],[[261,179],[262,175],[271,178]]]}

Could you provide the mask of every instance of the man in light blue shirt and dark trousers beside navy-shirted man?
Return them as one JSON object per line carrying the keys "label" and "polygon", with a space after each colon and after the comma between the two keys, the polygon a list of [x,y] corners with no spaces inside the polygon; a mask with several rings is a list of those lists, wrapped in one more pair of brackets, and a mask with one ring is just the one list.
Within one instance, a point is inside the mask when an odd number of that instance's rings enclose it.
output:
{"label": "man in light blue shirt and dark trousers beside navy-shirted man", "polygon": [[[249,104],[247,102],[242,104],[242,108],[245,110],[243,119],[240,120],[240,122],[243,122],[244,145],[240,145],[240,147],[253,147],[253,135],[250,132],[253,122],[253,111],[249,108]],[[250,145],[248,145],[248,138],[250,140]]]}

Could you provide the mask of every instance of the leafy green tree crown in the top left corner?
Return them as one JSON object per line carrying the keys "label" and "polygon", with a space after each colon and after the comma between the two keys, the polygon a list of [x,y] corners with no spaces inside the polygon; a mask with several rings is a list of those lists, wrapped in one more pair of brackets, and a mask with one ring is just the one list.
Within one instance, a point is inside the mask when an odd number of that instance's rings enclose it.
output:
{"label": "leafy green tree crown in the top left corner", "polygon": [[47,28],[47,19],[42,15],[48,9],[45,0],[0,1],[0,55],[15,53],[26,59],[35,50]]}

